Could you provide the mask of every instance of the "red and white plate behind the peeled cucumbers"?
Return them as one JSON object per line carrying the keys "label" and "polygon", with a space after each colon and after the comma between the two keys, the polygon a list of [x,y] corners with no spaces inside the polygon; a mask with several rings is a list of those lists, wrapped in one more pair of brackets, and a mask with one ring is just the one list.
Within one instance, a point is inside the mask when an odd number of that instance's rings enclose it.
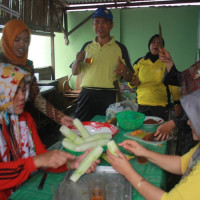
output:
{"label": "red and white plate behind the peeled cucumbers", "polygon": [[[119,131],[119,129],[117,129],[114,125],[109,123],[88,121],[82,122],[82,124],[90,133],[90,135],[94,135],[97,133],[110,133],[113,136]],[[72,125],[69,126],[69,128],[72,129],[78,135],[80,135],[79,131],[76,129],[75,126]]]}

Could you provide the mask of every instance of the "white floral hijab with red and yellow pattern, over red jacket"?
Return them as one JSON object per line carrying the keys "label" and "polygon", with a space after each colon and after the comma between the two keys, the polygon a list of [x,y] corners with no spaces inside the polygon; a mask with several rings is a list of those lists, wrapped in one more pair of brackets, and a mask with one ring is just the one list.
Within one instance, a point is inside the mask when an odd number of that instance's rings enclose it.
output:
{"label": "white floral hijab with red and yellow pattern, over red jacket", "polygon": [[10,64],[0,65],[0,162],[17,160],[34,154],[34,145],[26,122],[14,114],[13,98],[19,82],[24,79],[29,93],[30,74]]}

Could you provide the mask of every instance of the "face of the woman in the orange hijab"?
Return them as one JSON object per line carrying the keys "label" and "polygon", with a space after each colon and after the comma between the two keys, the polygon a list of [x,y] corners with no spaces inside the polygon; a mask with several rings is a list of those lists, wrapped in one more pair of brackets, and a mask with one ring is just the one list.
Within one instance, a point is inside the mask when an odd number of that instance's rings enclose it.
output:
{"label": "face of the woman in the orange hijab", "polygon": [[13,43],[13,52],[18,58],[22,58],[27,52],[30,44],[30,37],[27,31],[19,33]]}

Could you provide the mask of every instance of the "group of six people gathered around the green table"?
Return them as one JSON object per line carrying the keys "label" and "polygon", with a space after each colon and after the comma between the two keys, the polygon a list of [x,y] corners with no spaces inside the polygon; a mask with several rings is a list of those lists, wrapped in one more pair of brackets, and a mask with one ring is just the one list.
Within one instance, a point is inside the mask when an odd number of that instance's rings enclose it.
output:
{"label": "group of six people gathered around the green table", "polygon": [[[126,80],[130,87],[137,90],[138,112],[167,121],[158,127],[155,133],[157,139],[167,139],[175,126],[179,128],[179,139],[177,155],[158,154],[131,140],[125,140],[119,146],[136,156],[145,157],[170,173],[182,175],[182,179],[171,191],[166,192],[138,174],[119,150],[116,152],[117,156],[107,150],[109,162],[145,199],[200,199],[200,61],[179,72],[169,52],[160,47],[164,40],[155,34],[149,40],[148,53],[132,67],[127,48],[110,35],[113,26],[111,11],[105,7],[98,8],[93,15],[96,37],[83,45],[71,65],[73,75],[84,73],[75,117],[88,121],[95,115],[105,115],[109,105],[119,98],[120,80]],[[14,19],[5,24],[1,38],[2,200],[6,200],[35,170],[63,172],[76,169],[89,152],[75,158],[63,151],[46,150],[32,116],[24,110],[26,101],[30,101],[39,111],[59,124],[69,126],[73,120],[40,95],[33,62],[28,60],[30,37],[30,30],[25,23]],[[86,57],[92,60],[85,62]],[[176,119],[168,121],[171,95]],[[99,160],[92,163],[87,173],[95,171],[98,163]]]}

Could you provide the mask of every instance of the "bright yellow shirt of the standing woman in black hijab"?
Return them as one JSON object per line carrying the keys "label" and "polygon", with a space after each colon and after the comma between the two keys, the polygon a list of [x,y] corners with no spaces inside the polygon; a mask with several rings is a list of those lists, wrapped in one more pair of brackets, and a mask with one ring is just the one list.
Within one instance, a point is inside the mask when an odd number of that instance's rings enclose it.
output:
{"label": "bright yellow shirt of the standing woman in black hijab", "polygon": [[[140,81],[140,84],[137,87],[138,104],[147,106],[166,106],[168,104],[167,90],[166,86],[162,83],[166,64],[159,59],[153,63],[150,59],[145,60],[142,58],[133,66],[133,69]],[[170,85],[169,90],[172,94],[173,101],[179,101],[179,87]]]}

